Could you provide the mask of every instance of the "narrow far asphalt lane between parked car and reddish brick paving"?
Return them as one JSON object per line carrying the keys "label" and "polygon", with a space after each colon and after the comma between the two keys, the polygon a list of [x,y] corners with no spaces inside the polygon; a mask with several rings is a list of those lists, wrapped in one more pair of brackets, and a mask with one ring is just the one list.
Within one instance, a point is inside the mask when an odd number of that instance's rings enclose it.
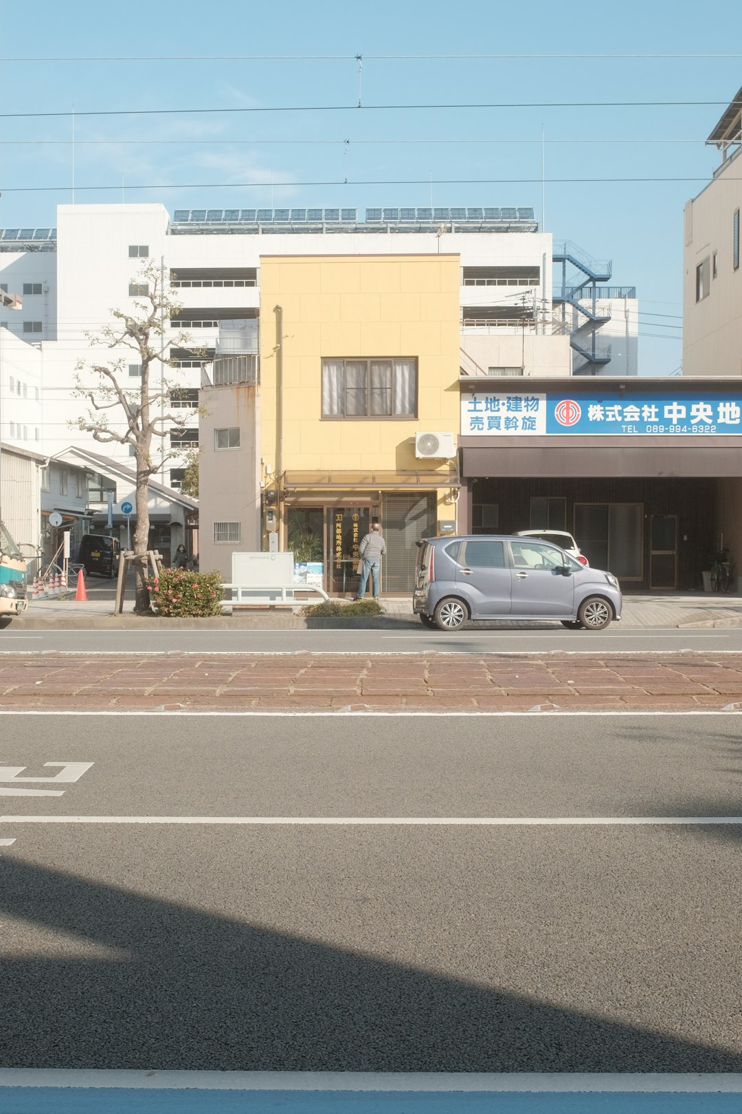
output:
{"label": "narrow far asphalt lane between parked car and reddish brick paving", "polygon": [[466,628],[445,634],[422,626],[398,631],[23,631],[12,624],[0,631],[0,653],[22,651],[75,651],[106,653],[162,653],[177,649],[191,654],[218,653],[426,653],[445,654],[544,653],[575,651],[594,654],[615,651],[741,651],[742,627],[624,627],[607,631],[565,631],[561,625],[542,628]]}

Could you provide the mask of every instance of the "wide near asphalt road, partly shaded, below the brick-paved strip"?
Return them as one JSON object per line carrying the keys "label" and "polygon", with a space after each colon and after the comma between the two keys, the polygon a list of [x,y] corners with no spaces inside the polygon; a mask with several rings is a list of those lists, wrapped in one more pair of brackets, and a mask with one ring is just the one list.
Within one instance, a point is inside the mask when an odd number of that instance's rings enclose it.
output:
{"label": "wide near asphalt road, partly shaded, below the brick-paved strip", "polygon": [[0,1067],[742,1071],[735,717],[0,726]]}

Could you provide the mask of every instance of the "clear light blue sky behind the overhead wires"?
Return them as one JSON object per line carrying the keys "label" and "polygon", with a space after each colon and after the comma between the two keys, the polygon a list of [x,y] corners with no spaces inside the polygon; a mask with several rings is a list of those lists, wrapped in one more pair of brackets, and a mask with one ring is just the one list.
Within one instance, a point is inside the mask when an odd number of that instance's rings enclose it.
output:
{"label": "clear light blue sky behind the overhead wires", "polygon": [[[75,106],[76,203],[123,196],[170,212],[363,209],[428,205],[432,195],[436,205],[533,205],[540,214],[543,128],[546,231],[611,258],[612,282],[636,286],[640,372],[665,374],[682,356],[683,206],[719,162],[704,139],[742,85],[739,2],[716,0],[705,12],[657,0],[7,0],[2,109]],[[502,57],[451,57],[476,55]],[[37,60],[52,56],[130,60]],[[9,60],[19,58],[34,60]],[[356,107],[359,98],[367,107]],[[370,107],[516,101],[544,107]],[[564,101],[593,107],[556,107]],[[277,106],[295,110],[226,111]],[[83,115],[185,108],[221,111]],[[71,199],[71,133],[69,116],[0,118],[0,227],[53,224],[56,205]],[[555,180],[565,178],[574,180]],[[112,188],[89,188],[103,186]]]}

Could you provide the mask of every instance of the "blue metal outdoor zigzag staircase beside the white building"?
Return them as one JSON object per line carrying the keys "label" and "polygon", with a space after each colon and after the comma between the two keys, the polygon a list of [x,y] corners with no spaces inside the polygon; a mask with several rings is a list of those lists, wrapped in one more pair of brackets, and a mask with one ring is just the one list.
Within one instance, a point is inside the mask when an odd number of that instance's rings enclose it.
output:
{"label": "blue metal outdoor zigzag staircase beside the white building", "polygon": [[[595,339],[600,326],[611,320],[610,313],[597,309],[601,294],[597,283],[610,281],[613,274],[612,261],[594,260],[570,241],[554,245],[553,258],[554,263],[562,264],[562,289],[554,291],[552,301],[562,306],[563,321],[566,321],[567,305],[584,317],[584,321],[576,319],[580,323],[574,325],[570,334],[570,346],[585,361],[575,369],[574,374],[594,375],[611,361],[610,345],[598,349]],[[566,276],[567,264],[577,271],[577,276],[570,284]],[[585,329],[588,330],[586,335],[583,333]],[[583,335],[577,336],[578,333]]]}

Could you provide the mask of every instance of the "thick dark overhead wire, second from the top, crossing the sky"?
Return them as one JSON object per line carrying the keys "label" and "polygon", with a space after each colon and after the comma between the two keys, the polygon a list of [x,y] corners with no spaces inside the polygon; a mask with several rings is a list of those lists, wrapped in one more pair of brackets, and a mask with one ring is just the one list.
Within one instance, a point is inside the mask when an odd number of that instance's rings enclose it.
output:
{"label": "thick dark overhead wire, second from the top, crossing the sky", "polygon": [[472,104],[439,105],[250,105],[229,108],[115,108],[62,113],[0,113],[0,119],[40,119],[83,116],[189,116],[214,115],[218,113],[394,113],[394,111],[441,111],[444,108],[471,111],[475,108],[725,108],[742,101],[728,100],[518,100],[481,101]]}

